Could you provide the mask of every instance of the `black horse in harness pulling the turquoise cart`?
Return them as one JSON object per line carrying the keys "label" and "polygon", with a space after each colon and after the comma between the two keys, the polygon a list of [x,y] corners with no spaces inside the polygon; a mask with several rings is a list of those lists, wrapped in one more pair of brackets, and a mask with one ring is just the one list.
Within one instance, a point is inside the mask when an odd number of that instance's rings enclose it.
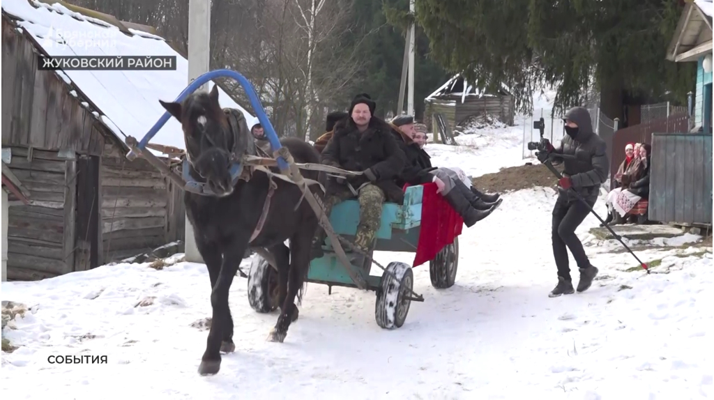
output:
{"label": "black horse in harness pulling the turquoise cart", "polygon": [[[248,180],[238,180],[233,185],[229,172],[231,153],[238,156],[251,153],[253,138],[241,113],[233,113],[238,114],[240,128],[237,132],[231,129],[226,115],[230,111],[224,111],[218,104],[218,86],[213,86],[210,93],[193,93],[182,103],[159,102],[181,122],[191,177],[206,183],[213,192],[207,196],[186,191],[183,200],[212,289],[211,330],[198,372],[216,374],[221,368],[220,352],[233,352],[236,348],[228,289],[246,249],[250,247],[263,254],[267,251],[277,266],[281,312],[269,339],[283,342],[298,315],[294,302],[298,294],[300,299],[308,275],[310,245],[318,219],[308,202],[301,201],[302,193],[296,185],[271,179],[261,170],[254,170]],[[283,138],[281,144],[290,150],[296,163],[319,163],[320,155],[309,143]],[[317,180],[314,172],[304,176]],[[271,199],[268,195],[272,193]],[[316,195],[322,195],[319,189]],[[266,200],[270,206],[263,215]],[[257,236],[251,241],[255,233]],[[288,239],[289,249],[284,245]]]}

